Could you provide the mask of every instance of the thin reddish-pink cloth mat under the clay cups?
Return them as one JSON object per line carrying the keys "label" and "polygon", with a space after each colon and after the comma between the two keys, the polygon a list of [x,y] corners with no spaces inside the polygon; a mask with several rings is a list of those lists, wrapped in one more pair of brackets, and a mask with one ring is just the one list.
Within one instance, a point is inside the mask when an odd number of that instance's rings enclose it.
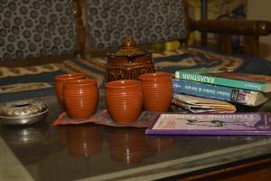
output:
{"label": "thin reddish-pink cloth mat under the clay cups", "polygon": [[111,119],[107,110],[98,110],[89,119],[71,119],[65,111],[62,111],[58,119],[53,121],[53,126],[58,125],[78,125],[86,123],[94,123],[109,127],[134,127],[147,128],[148,125],[157,117],[158,112],[143,111],[138,119],[131,123],[117,123]]}

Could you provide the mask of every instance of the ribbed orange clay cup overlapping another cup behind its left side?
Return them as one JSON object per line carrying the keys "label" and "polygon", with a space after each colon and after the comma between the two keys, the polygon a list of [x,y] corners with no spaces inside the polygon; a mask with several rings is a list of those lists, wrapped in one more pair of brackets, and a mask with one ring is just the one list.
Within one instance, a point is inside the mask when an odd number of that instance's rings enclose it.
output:
{"label": "ribbed orange clay cup overlapping another cup behind its left side", "polygon": [[64,107],[72,119],[88,119],[98,107],[96,80],[66,81],[63,87]]}

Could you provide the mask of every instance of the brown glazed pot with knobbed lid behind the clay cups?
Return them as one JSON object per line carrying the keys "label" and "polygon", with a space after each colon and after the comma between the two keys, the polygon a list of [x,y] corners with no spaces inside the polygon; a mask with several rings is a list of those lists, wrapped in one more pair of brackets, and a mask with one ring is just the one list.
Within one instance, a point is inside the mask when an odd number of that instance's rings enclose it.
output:
{"label": "brown glazed pot with knobbed lid behind the clay cups", "polygon": [[115,53],[107,54],[107,81],[138,80],[138,76],[154,72],[152,53],[135,46],[132,38],[126,38]]}

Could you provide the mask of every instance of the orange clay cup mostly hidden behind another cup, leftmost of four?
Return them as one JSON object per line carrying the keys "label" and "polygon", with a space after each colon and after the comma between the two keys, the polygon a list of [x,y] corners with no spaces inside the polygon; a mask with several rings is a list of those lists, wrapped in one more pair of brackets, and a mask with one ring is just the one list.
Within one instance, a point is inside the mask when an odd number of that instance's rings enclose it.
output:
{"label": "orange clay cup mostly hidden behind another cup, leftmost of four", "polygon": [[66,81],[72,81],[72,80],[80,80],[80,79],[86,79],[87,74],[86,73],[70,73],[70,74],[61,74],[57,75],[54,79],[54,90],[56,92],[57,99],[59,100],[59,103],[61,106],[63,105],[63,85]]}

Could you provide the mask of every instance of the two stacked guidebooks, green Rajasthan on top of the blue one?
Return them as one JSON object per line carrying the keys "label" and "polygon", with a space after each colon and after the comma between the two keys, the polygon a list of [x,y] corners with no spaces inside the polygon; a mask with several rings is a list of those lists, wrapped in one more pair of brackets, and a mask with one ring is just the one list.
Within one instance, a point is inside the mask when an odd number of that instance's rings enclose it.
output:
{"label": "two stacked guidebooks, green Rajasthan on top of the blue one", "polygon": [[271,76],[209,69],[175,72],[174,94],[258,106],[271,95]]}

